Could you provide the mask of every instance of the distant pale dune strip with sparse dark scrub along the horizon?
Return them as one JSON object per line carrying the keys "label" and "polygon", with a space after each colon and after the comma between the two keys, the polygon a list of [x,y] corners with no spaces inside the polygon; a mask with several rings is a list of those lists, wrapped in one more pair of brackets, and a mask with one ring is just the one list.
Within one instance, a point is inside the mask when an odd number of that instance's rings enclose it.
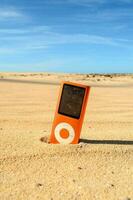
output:
{"label": "distant pale dune strip with sparse dark scrub along the horizon", "polygon": [[89,84],[91,86],[130,86],[133,74],[70,74],[70,73],[0,73],[0,80],[36,81],[59,84],[63,80]]}

